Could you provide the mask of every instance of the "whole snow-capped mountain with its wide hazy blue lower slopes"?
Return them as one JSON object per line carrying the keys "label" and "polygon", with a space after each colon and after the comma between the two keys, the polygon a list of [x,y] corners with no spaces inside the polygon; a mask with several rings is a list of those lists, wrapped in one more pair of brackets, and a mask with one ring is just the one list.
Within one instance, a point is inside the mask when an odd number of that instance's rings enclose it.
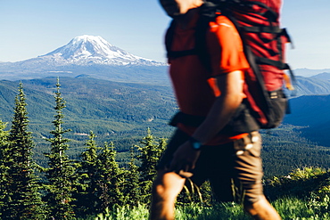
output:
{"label": "whole snow-capped mountain with its wide hazy blue lower slopes", "polygon": [[0,62],[0,79],[88,75],[114,81],[167,81],[166,69],[166,63],[128,53],[103,37],[84,35],[37,58]]}

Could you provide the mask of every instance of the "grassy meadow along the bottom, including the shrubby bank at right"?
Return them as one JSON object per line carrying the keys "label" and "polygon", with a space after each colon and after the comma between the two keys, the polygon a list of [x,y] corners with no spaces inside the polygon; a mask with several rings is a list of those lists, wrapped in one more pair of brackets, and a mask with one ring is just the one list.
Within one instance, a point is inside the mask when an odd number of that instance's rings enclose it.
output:
{"label": "grassy meadow along the bottom, including the shrubby bank at right", "polygon": [[[273,177],[265,182],[265,193],[271,204],[285,220],[330,219],[330,170],[304,167],[289,175]],[[86,220],[148,219],[147,205],[108,208],[105,213],[87,216]],[[241,205],[234,202],[214,203],[208,201],[179,204],[177,220],[248,220]],[[82,219],[80,219],[82,220]]]}

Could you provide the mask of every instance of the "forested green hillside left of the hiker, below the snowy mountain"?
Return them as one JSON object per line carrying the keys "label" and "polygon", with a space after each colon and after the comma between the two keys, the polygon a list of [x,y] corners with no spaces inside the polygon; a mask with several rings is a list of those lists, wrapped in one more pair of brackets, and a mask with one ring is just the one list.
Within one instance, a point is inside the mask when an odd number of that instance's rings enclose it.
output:
{"label": "forested green hillside left of the hiker, below the snowy mountain", "polygon": [[[55,77],[22,80],[27,96],[30,129],[37,141],[49,135],[54,119]],[[93,130],[104,141],[135,137],[151,127],[155,134],[169,133],[167,121],[176,111],[169,86],[118,83],[89,77],[61,77],[65,127],[70,138],[86,139]],[[19,82],[0,81],[0,118],[10,122]],[[165,134],[164,134],[165,133]]]}

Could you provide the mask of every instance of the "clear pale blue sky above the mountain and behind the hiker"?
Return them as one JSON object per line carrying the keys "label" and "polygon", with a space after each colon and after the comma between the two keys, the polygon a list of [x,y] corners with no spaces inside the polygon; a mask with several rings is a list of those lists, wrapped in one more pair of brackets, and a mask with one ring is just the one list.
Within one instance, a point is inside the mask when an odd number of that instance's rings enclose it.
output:
{"label": "clear pale blue sky above the mountain and behind the hiker", "polygon": [[[329,9],[329,0],[285,1],[282,22],[295,45],[287,53],[293,69],[330,68]],[[0,0],[0,61],[34,58],[80,35],[165,61],[168,24],[157,0]]]}

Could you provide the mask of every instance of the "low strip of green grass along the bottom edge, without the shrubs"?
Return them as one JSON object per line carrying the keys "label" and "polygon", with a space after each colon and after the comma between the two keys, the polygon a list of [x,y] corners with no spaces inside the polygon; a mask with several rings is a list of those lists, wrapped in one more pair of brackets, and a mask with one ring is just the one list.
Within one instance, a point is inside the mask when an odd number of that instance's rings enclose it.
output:
{"label": "low strip of green grass along the bottom edge, without the shrubs", "polygon": [[[316,201],[311,198],[301,200],[297,198],[282,198],[272,202],[280,216],[284,220],[326,220],[330,219],[329,198],[324,201]],[[114,208],[98,216],[90,216],[87,220],[147,220],[148,208],[139,205],[136,208],[122,207]],[[221,203],[214,206],[202,206],[201,204],[191,204],[189,206],[178,206],[176,208],[177,220],[251,220],[250,216],[245,215],[243,208],[234,203]],[[82,219],[80,219],[82,220]]]}

